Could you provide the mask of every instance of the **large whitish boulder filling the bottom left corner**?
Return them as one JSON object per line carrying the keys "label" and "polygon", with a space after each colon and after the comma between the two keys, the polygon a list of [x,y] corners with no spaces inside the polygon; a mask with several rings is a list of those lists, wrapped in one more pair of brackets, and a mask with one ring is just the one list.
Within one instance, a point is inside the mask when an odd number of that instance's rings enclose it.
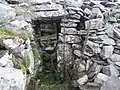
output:
{"label": "large whitish boulder filling the bottom left corner", "polygon": [[0,67],[0,90],[25,90],[26,78],[22,71]]}

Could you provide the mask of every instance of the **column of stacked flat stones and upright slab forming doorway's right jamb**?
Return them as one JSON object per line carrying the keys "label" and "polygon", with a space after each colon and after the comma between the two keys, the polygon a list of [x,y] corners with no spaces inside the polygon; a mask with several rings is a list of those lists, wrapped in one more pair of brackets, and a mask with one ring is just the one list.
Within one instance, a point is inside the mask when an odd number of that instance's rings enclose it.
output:
{"label": "column of stacked flat stones and upright slab forming doorway's right jamb", "polygon": [[[74,53],[72,49],[74,44],[81,43],[81,36],[78,35],[77,26],[80,23],[82,10],[74,7],[66,7],[69,14],[68,17],[61,19],[61,33],[59,33],[59,41],[62,42],[58,45],[58,61],[59,66],[63,65],[63,60],[67,61],[69,64],[74,60]],[[82,12],[81,12],[82,13]],[[69,67],[68,64],[68,67]],[[62,67],[62,66],[60,66]]]}

